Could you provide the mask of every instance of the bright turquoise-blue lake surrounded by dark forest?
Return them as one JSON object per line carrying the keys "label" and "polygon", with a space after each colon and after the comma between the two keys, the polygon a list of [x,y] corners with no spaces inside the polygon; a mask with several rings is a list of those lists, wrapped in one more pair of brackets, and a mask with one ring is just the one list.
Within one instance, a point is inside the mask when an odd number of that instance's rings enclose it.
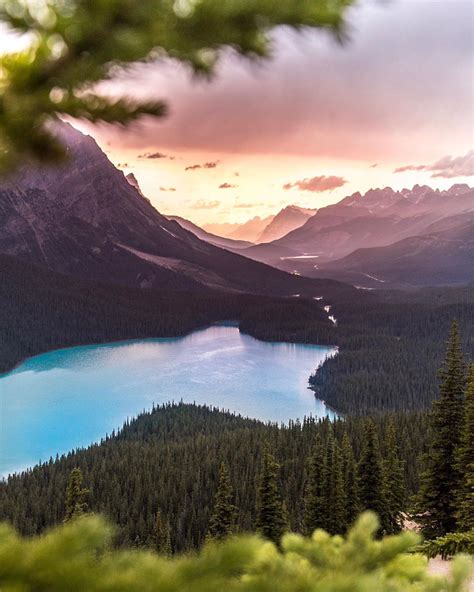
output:
{"label": "bright turquoise-blue lake surrounded by dark forest", "polygon": [[333,416],[308,377],[334,349],[215,326],[177,339],[74,347],[0,377],[0,475],[100,440],[153,403],[206,403],[262,420]]}

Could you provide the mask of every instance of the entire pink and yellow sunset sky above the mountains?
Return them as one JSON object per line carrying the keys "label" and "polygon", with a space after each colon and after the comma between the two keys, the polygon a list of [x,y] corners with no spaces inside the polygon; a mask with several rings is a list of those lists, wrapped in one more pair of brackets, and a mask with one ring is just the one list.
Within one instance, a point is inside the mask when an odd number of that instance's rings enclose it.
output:
{"label": "entire pink and yellow sunset sky above the mountains", "polygon": [[137,67],[112,92],[163,98],[168,117],[79,127],[160,211],[201,224],[472,183],[474,2],[366,0],[348,22],[342,46],[280,29],[271,61],[229,51],[210,82],[175,63]]}

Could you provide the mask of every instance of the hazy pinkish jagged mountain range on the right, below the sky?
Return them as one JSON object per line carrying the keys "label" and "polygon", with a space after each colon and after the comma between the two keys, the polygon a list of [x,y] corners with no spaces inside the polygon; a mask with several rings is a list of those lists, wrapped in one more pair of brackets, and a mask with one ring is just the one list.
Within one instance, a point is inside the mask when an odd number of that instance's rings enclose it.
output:
{"label": "hazy pinkish jagged mountain range on the right, below the sky", "polygon": [[[474,189],[464,184],[446,191],[419,185],[402,191],[374,189],[322,208],[281,239],[249,247],[243,253],[280,269],[320,277],[322,269],[333,271],[331,261],[358,249],[388,247],[433,233],[436,224],[442,230],[443,224],[455,224],[456,216],[462,219],[473,211]],[[383,253],[390,256],[390,250]],[[415,264],[416,260],[412,261]]]}

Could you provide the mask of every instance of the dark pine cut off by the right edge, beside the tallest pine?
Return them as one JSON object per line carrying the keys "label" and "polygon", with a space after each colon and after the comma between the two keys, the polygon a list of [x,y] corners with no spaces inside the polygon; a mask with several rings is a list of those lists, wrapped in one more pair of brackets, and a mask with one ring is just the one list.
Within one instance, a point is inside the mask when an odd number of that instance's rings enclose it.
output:
{"label": "dark pine cut off by the right edge, beside the tallest pine", "polygon": [[461,482],[457,494],[458,528],[474,528],[474,364],[469,371],[469,384],[464,402],[464,425],[457,451],[457,466]]}

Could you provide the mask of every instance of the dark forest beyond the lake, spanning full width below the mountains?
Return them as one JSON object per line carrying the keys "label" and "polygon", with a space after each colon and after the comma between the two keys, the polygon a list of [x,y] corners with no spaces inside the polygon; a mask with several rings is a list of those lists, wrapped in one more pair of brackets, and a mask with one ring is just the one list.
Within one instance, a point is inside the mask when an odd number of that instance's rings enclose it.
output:
{"label": "dark forest beyond the lake, spanning full width below the mountains", "polygon": [[474,357],[472,287],[374,293],[334,282],[325,284],[322,300],[211,290],[191,296],[78,280],[5,256],[0,264],[4,371],[50,349],[177,336],[232,319],[263,340],[338,345],[311,382],[338,411],[368,413],[429,405],[453,318],[466,356]]}

